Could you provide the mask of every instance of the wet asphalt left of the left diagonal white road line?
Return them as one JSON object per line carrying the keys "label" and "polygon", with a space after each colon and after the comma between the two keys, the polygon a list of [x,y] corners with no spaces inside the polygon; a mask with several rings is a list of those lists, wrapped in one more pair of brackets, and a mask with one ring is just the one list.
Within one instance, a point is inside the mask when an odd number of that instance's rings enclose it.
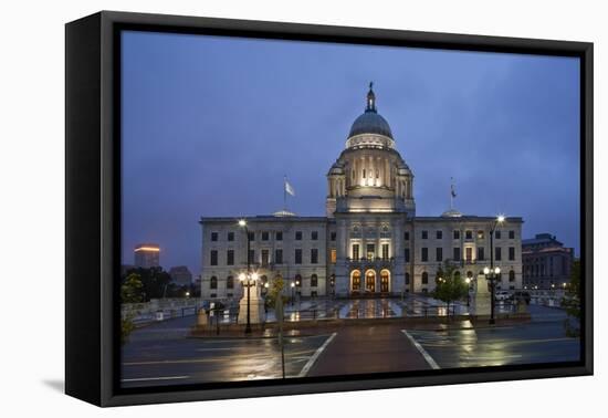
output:
{"label": "wet asphalt left of the left diagonal white road line", "polygon": [[[276,338],[188,338],[195,317],[135,331],[123,348],[123,387],[281,378]],[[285,338],[286,377],[297,377],[331,334]]]}

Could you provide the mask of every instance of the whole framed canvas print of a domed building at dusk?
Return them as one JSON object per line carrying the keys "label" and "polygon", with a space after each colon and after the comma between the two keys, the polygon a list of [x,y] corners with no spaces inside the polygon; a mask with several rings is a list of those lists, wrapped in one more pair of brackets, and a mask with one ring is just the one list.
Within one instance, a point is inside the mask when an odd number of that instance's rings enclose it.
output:
{"label": "whole framed canvas print of a domed building at dusk", "polygon": [[66,25],[66,393],[593,373],[593,44]]}

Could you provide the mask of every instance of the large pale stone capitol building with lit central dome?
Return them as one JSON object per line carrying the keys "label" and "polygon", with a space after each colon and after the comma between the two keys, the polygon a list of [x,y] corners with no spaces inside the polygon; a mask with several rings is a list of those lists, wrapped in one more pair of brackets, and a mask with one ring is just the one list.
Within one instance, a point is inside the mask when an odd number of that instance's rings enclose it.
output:
{"label": "large pale stone capitol building with lit central dome", "polygon": [[447,264],[476,281],[492,255],[501,269],[499,289],[522,288],[522,218],[496,224],[495,216],[463,215],[452,205],[437,216],[417,216],[413,171],[378,113],[371,85],[365,112],[326,176],[324,217],[286,210],[249,217],[248,233],[238,217],[202,217],[201,296],[240,299],[238,278],[248,258],[262,293],[277,276],[286,292],[304,297],[427,293]]}

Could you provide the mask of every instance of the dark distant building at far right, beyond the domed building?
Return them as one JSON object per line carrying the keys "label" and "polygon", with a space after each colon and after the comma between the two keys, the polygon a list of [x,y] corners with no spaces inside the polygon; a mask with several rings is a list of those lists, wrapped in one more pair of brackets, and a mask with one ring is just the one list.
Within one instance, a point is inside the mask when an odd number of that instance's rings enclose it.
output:
{"label": "dark distant building at far right, beyond the domed building", "polygon": [[574,249],[565,248],[551,233],[537,233],[522,241],[524,286],[559,289],[570,281]]}

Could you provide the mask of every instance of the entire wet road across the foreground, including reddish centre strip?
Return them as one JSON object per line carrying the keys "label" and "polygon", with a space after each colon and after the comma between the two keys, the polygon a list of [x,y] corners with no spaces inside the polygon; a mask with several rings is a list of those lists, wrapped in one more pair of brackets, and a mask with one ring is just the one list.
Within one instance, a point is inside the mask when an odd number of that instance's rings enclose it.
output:
{"label": "entire wet road across the foreground, including reddish centre strip", "polygon": [[[467,330],[345,326],[323,335],[292,336],[284,348],[286,377],[406,372],[567,362],[579,341],[565,335],[560,310],[530,306],[533,321]],[[136,330],[123,347],[124,387],[281,378],[275,338],[189,338],[195,317]],[[464,323],[463,325],[467,326]],[[469,324],[470,325],[470,324]]]}

